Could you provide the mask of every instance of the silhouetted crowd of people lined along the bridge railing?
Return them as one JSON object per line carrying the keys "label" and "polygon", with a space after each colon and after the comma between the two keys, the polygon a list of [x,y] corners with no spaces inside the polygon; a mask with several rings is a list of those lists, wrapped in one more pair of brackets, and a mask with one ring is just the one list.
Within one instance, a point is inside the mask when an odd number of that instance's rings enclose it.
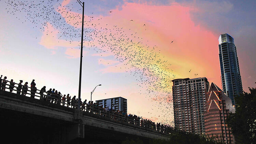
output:
{"label": "silhouetted crowd of people lined along the bridge railing", "polygon": [[[0,76],[1,90],[5,91],[6,85],[8,85],[7,84],[8,82],[9,82],[10,92],[13,92],[14,88],[16,88],[18,95],[26,96],[27,94],[29,94],[31,98],[35,98],[35,96],[37,96],[37,97],[40,97],[40,100],[44,100],[49,103],[59,104],[62,106],[71,107],[73,109],[78,108],[79,100],[78,98],[76,98],[76,96],[73,96],[71,98],[69,94],[62,95],[60,91],[57,91],[54,88],[50,88],[48,91],[46,91],[46,86],[43,86],[39,91],[37,87],[35,87],[36,86],[35,80],[32,80],[32,82],[30,83],[30,87],[28,87],[28,82],[22,85],[23,83],[22,80],[19,81],[19,83],[17,84],[18,86],[15,86],[16,83],[13,82],[13,80],[8,81],[6,76],[4,76],[4,78],[2,79],[2,75],[1,75]],[[28,91],[30,91],[30,93],[28,93]],[[36,93],[38,93],[40,96],[36,95]],[[109,118],[112,118],[114,120],[126,121],[127,123],[144,127],[147,129],[157,130],[161,132],[166,132],[167,129],[173,130],[173,128],[170,126],[166,126],[160,123],[155,124],[155,122],[149,119],[143,119],[140,116],[132,115],[132,114],[128,115],[126,112],[115,110],[112,107],[99,105],[97,102],[93,102],[93,101],[89,101],[87,103],[87,100],[84,100],[84,101],[80,100],[80,109],[82,111],[98,114],[103,117],[109,116]]]}

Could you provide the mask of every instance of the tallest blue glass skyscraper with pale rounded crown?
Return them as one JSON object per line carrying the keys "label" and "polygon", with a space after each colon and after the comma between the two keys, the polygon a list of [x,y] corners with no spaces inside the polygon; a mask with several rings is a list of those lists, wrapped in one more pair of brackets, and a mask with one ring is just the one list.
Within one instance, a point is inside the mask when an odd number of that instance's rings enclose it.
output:
{"label": "tallest blue glass skyscraper with pale rounded crown", "polygon": [[237,48],[227,33],[219,36],[219,63],[221,65],[222,89],[235,105],[234,96],[243,92]]}

